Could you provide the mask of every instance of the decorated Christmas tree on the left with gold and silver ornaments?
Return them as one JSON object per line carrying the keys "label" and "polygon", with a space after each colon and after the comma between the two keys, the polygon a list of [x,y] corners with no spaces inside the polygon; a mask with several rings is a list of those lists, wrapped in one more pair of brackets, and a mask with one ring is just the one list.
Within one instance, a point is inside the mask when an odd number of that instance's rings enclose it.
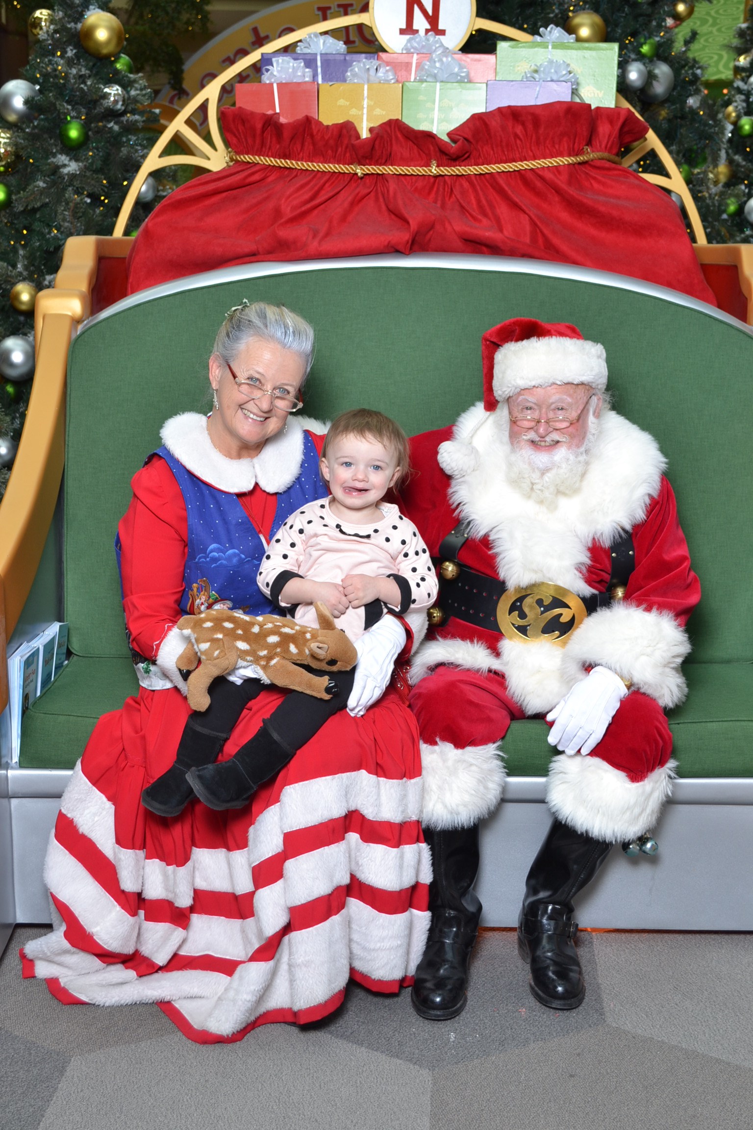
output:
{"label": "decorated Christmas tree on the left with gold and silver ornaments", "polygon": [[[151,90],[121,52],[123,27],[87,0],[58,0],[20,79],[0,88],[0,467],[12,461],[34,371],[34,302],[70,235],[112,234],[154,142]],[[147,182],[138,226],[158,186]],[[8,419],[10,429],[8,433]],[[5,445],[2,443],[5,441]],[[5,452],[5,454],[3,454]],[[5,489],[0,478],[0,493]]]}

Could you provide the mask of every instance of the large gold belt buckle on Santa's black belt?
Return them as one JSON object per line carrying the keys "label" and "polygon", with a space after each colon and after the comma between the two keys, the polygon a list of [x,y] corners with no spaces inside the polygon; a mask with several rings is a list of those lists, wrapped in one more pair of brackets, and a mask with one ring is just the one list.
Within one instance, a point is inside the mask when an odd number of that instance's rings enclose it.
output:
{"label": "large gold belt buckle on Santa's black belt", "polygon": [[580,597],[559,584],[508,589],[497,605],[499,631],[518,643],[553,643],[564,647],[570,635],[588,616]]}

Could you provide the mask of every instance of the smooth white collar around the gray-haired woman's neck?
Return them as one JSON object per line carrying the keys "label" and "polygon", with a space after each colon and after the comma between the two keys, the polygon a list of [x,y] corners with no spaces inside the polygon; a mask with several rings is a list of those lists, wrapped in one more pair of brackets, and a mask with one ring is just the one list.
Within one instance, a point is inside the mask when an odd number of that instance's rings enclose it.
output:
{"label": "smooth white collar around the gray-haired woman's neck", "polygon": [[200,412],[173,416],[163,426],[160,438],[187,470],[218,490],[244,494],[259,483],[262,490],[280,494],[300,472],[305,429],[326,432],[326,426],[291,417],[287,431],[268,440],[255,459],[228,459],[220,454],[209,438],[207,417]]}

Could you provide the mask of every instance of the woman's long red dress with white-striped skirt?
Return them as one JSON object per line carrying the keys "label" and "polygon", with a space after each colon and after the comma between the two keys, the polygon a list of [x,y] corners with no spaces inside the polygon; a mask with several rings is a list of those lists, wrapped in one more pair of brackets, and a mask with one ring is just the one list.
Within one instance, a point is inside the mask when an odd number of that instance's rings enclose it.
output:
{"label": "woman's long red dress with white-striped skirt", "polygon": [[[186,513],[169,468],[133,481],[120,524],[132,645],[157,658],[181,617]],[[272,530],[275,497],[237,495]],[[221,757],[280,701],[251,703]],[[200,1043],[260,1024],[319,1019],[349,977],[378,992],[412,982],[428,928],[430,863],[419,824],[417,724],[397,690],[364,718],[339,713],[243,809],[190,803],[152,815],[141,791],[173,762],[190,707],[175,687],[103,715],[61,803],[45,864],[53,932],[24,975],[63,1003],[156,1001]]]}

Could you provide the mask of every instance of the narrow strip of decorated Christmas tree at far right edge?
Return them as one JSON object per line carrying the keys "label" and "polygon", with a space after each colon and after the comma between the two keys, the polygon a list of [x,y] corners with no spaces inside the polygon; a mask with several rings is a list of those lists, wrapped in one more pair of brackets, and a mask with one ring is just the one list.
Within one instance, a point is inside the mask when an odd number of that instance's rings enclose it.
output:
{"label": "narrow strip of decorated Christmas tree at far right edge", "polygon": [[[750,6],[748,6],[750,14]],[[753,242],[753,21],[741,24],[735,37],[735,81],[721,103],[721,168],[725,177],[721,238]]]}

